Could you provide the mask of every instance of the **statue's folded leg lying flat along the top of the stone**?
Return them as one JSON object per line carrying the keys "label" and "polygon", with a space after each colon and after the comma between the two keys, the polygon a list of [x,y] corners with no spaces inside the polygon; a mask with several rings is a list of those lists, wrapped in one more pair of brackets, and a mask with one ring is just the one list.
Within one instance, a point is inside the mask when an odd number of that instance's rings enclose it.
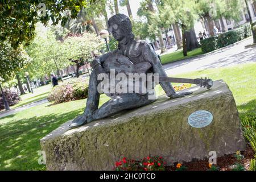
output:
{"label": "statue's folded leg lying flat along the top of the stone", "polygon": [[95,119],[108,117],[109,115],[118,113],[121,110],[133,109],[143,105],[150,104],[155,100],[148,100],[148,95],[140,95],[136,93],[122,94],[121,96],[110,99],[99,109],[95,110],[91,117],[87,118],[87,122]]}

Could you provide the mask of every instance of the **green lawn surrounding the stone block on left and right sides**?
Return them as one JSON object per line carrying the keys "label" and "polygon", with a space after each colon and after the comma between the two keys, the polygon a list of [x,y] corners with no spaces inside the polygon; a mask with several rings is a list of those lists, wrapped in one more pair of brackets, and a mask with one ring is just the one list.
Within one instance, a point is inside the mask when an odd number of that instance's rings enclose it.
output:
{"label": "green lawn surrounding the stone block on left and right sides", "polygon": [[[256,106],[256,64],[241,64],[234,67],[196,71],[179,77],[210,77],[228,83],[241,114],[254,114]],[[173,76],[173,75],[172,75]],[[158,92],[162,89],[158,86]],[[109,100],[102,95],[100,105]],[[0,118],[0,170],[46,169],[38,164],[39,140],[82,113],[86,100],[64,104],[49,103],[31,107],[19,113]]]}

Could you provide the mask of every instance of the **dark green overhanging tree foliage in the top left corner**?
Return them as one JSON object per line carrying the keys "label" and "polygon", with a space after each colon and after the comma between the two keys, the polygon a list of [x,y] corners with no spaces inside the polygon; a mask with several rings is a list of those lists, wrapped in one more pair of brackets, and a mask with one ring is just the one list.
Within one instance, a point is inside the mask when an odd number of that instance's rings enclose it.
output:
{"label": "dark green overhanging tree foliage in the top left corner", "polygon": [[[34,38],[37,22],[40,21],[46,25],[51,20],[53,25],[61,22],[61,25],[64,26],[69,19],[69,16],[63,15],[64,11],[69,10],[70,18],[76,18],[79,11],[87,4],[87,0],[44,0],[43,3],[41,0],[1,1],[0,43],[7,41],[14,48],[21,43],[27,45]],[[38,15],[39,13],[40,15]]]}

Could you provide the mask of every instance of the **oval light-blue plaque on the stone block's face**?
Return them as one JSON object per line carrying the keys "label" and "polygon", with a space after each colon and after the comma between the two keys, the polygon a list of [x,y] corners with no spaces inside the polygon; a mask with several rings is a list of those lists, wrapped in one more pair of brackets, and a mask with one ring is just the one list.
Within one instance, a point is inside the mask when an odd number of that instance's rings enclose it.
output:
{"label": "oval light-blue plaque on the stone block's face", "polygon": [[197,110],[188,117],[188,124],[192,127],[202,128],[210,125],[213,115],[207,110]]}

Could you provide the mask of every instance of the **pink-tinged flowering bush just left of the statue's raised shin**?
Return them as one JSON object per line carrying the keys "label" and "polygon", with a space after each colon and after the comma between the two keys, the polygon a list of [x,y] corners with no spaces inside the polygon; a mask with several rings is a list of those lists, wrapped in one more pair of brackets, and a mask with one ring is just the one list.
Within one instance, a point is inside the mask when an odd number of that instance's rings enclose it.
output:
{"label": "pink-tinged flowering bush just left of the statue's raised shin", "polygon": [[77,78],[53,87],[47,99],[54,101],[54,104],[59,104],[87,97],[88,80]]}

